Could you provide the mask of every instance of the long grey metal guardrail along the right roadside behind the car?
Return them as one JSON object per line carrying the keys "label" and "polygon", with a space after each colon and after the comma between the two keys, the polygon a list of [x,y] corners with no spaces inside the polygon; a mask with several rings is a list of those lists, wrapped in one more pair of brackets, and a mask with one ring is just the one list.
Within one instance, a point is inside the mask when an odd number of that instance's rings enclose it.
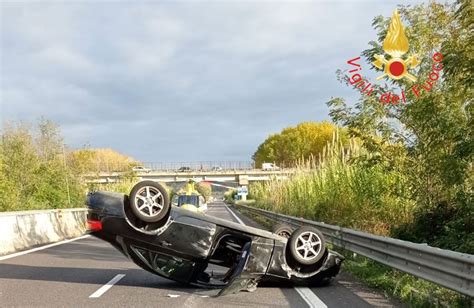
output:
{"label": "long grey metal guardrail along the right roadside behind the car", "polygon": [[474,297],[474,255],[373,235],[245,205],[237,207],[244,207],[253,213],[293,226],[315,226],[324,234],[327,241],[336,246]]}

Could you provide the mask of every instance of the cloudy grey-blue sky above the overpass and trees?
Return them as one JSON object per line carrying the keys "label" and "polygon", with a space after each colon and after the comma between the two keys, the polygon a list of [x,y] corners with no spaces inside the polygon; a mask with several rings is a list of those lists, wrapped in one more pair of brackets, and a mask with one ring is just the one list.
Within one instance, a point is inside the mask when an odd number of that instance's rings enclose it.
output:
{"label": "cloudy grey-blue sky above the overpass and trees", "polygon": [[357,97],[335,71],[376,15],[419,1],[2,2],[2,122],[142,161],[250,160],[270,134]]}

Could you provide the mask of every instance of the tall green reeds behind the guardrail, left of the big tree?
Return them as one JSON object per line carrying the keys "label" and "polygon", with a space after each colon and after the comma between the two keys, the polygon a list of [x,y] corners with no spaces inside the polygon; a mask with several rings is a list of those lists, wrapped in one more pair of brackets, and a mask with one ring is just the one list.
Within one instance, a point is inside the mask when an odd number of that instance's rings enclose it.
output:
{"label": "tall green reeds behind the guardrail, left of the big tree", "polygon": [[335,139],[317,162],[299,165],[290,180],[252,184],[250,196],[272,211],[388,235],[412,219],[407,180],[362,155],[355,141],[346,149]]}

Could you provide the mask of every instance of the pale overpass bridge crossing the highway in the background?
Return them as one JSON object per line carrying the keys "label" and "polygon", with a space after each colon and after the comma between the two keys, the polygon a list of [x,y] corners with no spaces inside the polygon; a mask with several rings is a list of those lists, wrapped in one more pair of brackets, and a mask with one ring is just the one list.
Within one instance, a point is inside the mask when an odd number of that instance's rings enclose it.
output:
{"label": "pale overpass bridge crossing the highway in the background", "polygon": [[[271,179],[287,179],[294,172],[292,169],[278,171],[264,171],[260,169],[251,170],[194,170],[188,172],[160,171],[134,172],[134,176],[140,180],[152,180],[158,182],[184,182],[194,180],[196,182],[223,182],[237,183],[238,185],[248,185],[249,182],[269,181]],[[120,182],[124,177],[130,176],[130,172],[99,172],[83,175],[87,183],[115,183]]]}

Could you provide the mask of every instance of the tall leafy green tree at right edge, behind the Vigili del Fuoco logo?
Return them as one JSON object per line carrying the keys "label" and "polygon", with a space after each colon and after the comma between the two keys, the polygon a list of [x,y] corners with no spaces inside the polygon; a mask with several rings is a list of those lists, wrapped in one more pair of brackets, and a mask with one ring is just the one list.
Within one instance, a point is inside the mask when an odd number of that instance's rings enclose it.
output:
{"label": "tall leafy green tree at right edge, behind the Vigili del Fuoco logo", "polygon": [[[421,60],[416,84],[429,81],[436,52],[442,54],[443,73],[419,97],[407,91],[406,105],[382,105],[378,97],[366,95],[353,104],[334,98],[328,102],[330,115],[333,121],[347,127],[351,136],[359,137],[364,147],[380,153],[376,164],[393,167],[397,163],[409,177],[418,209],[410,231],[400,234],[444,247],[456,243],[459,248],[459,239],[452,241],[449,237],[467,232],[465,240],[472,244],[460,249],[473,249],[472,4],[430,2],[402,6],[399,11],[412,51]],[[363,52],[367,63],[373,63],[374,56],[383,53],[382,41],[389,21],[381,16],[374,19],[378,41],[370,42],[370,48]],[[348,84],[344,72],[339,71],[338,77]],[[404,79],[387,80],[378,90],[387,93],[412,86]],[[394,149],[403,159],[394,161]],[[443,227],[438,228],[439,225]],[[453,226],[455,231],[447,226]],[[469,245],[471,248],[466,248]]]}

